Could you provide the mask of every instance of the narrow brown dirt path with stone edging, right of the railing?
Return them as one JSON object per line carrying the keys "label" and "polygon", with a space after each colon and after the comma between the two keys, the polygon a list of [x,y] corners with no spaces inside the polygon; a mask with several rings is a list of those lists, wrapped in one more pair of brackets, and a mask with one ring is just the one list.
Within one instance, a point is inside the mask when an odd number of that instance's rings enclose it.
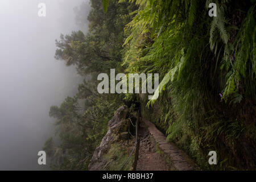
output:
{"label": "narrow brown dirt path with stone edging, right of the railing", "polygon": [[139,129],[141,144],[137,171],[188,171],[198,169],[193,161],[149,121],[142,121]]}

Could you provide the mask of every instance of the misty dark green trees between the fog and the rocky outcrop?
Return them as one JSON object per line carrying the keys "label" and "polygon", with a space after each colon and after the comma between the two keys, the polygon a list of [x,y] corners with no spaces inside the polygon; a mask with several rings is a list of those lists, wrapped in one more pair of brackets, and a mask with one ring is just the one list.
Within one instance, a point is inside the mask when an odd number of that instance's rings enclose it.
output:
{"label": "misty dark green trees between the fog and the rocky outcrop", "polygon": [[[105,15],[101,3],[104,11],[110,7]],[[125,39],[123,28],[131,20],[129,14],[136,6],[101,0],[93,0],[91,5],[88,34],[73,31],[71,35],[61,34],[60,40],[56,40],[55,58],[65,60],[66,65],[76,65],[85,80],[75,97],[67,97],[49,111],[50,117],[56,119],[56,139],[60,140],[57,144],[50,138],[44,145],[52,169],[88,169],[95,148],[106,134],[108,121],[123,104],[122,95],[99,94],[94,80],[97,73],[109,73],[110,68],[119,67]]]}

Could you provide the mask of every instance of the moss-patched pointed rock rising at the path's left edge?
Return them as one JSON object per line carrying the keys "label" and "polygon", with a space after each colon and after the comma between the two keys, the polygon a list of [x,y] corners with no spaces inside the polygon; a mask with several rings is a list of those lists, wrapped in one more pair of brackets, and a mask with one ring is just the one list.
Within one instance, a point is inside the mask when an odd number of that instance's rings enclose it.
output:
{"label": "moss-patched pointed rock rising at the path's left edge", "polygon": [[[127,145],[127,119],[129,111],[126,106],[119,107],[114,117],[108,123],[108,132],[102,138],[100,146],[94,151],[90,160],[89,170],[119,170],[129,156]],[[126,136],[125,136],[126,135]],[[134,156],[126,163],[123,169],[130,170]]]}

